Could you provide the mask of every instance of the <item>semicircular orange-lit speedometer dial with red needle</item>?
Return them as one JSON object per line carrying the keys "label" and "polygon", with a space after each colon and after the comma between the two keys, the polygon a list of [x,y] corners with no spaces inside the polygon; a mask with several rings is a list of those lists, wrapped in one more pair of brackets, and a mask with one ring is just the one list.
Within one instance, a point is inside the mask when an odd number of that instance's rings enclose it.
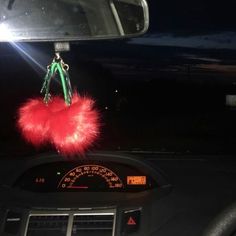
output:
{"label": "semicircular orange-lit speedometer dial with red needle", "polygon": [[80,165],[67,172],[58,189],[64,191],[97,191],[124,188],[122,180],[110,169],[101,165]]}

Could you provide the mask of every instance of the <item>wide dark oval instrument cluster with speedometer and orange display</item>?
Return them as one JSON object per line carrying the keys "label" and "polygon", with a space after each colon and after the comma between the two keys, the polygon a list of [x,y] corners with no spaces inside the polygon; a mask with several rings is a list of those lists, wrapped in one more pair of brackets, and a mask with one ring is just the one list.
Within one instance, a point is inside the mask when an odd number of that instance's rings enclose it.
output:
{"label": "wide dark oval instrument cluster with speedometer and orange display", "polygon": [[31,167],[14,187],[31,192],[141,192],[158,183],[145,170],[129,164],[81,160]]}

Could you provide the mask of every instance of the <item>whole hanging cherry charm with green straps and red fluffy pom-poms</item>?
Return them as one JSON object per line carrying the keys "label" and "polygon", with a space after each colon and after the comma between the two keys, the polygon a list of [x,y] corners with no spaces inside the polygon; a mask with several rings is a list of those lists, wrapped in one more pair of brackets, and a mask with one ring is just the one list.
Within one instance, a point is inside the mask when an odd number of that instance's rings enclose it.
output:
{"label": "whole hanging cherry charm with green straps and red fluffy pom-poms", "polygon": [[[99,114],[94,100],[72,92],[69,66],[56,53],[41,89],[44,98],[28,100],[19,108],[17,125],[34,146],[51,143],[65,156],[83,154],[99,136]],[[50,94],[51,80],[59,76],[64,98]]]}

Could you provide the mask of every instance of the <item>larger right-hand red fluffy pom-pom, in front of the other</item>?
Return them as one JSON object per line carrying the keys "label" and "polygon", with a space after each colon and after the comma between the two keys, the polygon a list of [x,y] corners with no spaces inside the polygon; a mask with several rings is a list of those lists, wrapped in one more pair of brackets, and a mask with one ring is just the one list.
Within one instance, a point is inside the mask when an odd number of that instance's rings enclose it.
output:
{"label": "larger right-hand red fluffy pom-pom, in front of the other", "polygon": [[66,106],[56,97],[50,109],[51,142],[63,155],[83,154],[99,135],[99,114],[94,110],[94,101],[74,94],[72,104]]}

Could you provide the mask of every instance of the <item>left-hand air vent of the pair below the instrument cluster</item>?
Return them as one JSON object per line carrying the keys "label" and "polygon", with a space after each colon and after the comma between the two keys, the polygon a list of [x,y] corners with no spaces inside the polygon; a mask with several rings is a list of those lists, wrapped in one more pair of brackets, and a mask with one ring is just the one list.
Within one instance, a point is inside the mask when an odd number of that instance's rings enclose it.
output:
{"label": "left-hand air vent of the pair below the instrument cluster", "polygon": [[68,215],[31,215],[26,236],[66,236]]}

